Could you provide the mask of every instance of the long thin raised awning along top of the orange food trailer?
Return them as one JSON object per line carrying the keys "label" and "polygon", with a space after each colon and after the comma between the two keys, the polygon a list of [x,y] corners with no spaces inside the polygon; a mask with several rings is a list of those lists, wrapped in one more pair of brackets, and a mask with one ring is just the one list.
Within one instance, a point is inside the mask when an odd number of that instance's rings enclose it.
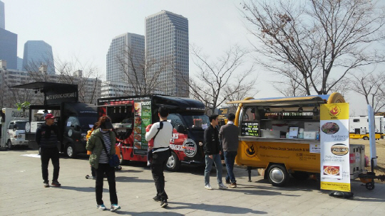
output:
{"label": "long thin raised awning along top of the orange food trailer", "polygon": [[330,95],[309,95],[301,97],[274,97],[274,98],[262,98],[262,99],[245,99],[237,100],[233,102],[227,102],[227,104],[247,104],[257,105],[261,107],[293,107],[293,106],[319,106],[319,104],[326,104]]}

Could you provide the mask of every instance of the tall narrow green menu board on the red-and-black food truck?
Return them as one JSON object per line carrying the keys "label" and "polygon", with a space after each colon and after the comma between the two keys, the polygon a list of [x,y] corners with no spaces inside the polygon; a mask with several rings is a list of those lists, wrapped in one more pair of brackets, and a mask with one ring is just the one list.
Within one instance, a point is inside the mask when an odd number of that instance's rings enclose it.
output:
{"label": "tall narrow green menu board on the red-and-black food truck", "polygon": [[151,102],[135,102],[134,148],[136,155],[147,155],[148,142],[145,141],[145,128],[151,124]]}

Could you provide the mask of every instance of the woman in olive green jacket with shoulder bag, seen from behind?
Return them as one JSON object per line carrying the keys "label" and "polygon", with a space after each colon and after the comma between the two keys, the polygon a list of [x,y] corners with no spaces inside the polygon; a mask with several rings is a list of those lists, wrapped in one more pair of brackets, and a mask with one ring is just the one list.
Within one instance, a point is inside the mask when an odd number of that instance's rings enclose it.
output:
{"label": "woman in olive green jacket with shoulder bag, seen from behind", "polygon": [[111,212],[119,210],[118,196],[116,195],[115,168],[108,163],[109,156],[115,155],[116,136],[113,133],[113,125],[109,117],[100,117],[99,128],[94,130],[87,141],[86,149],[91,151],[90,164],[96,169],[96,207],[106,210],[103,203],[103,174],[106,173]]}

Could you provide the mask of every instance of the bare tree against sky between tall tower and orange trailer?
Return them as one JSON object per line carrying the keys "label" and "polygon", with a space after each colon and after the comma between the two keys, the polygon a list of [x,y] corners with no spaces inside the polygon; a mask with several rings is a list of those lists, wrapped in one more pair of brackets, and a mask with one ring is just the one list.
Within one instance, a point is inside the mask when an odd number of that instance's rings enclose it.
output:
{"label": "bare tree against sky between tall tower and orange trailer", "polygon": [[195,78],[185,82],[190,87],[190,96],[210,107],[212,113],[223,102],[256,94],[254,65],[244,65],[247,50],[233,45],[215,60],[210,60],[198,48],[191,50],[198,71]]}

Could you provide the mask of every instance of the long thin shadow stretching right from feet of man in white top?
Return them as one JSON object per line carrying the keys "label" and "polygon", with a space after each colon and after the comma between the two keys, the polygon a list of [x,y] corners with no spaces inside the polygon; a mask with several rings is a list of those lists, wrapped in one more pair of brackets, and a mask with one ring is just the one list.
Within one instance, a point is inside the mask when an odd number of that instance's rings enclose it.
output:
{"label": "long thin shadow stretching right from feet of man in white top", "polygon": [[177,204],[177,205],[183,205],[183,206],[177,206],[177,207],[170,207],[168,206],[168,209],[170,210],[176,210],[176,209],[195,209],[195,210],[204,210],[206,212],[217,212],[218,215],[220,213],[222,214],[267,214],[267,212],[262,211],[255,211],[247,207],[234,207],[234,206],[223,206],[223,205],[207,205],[207,204],[193,204],[188,202],[168,202],[170,205]]}

